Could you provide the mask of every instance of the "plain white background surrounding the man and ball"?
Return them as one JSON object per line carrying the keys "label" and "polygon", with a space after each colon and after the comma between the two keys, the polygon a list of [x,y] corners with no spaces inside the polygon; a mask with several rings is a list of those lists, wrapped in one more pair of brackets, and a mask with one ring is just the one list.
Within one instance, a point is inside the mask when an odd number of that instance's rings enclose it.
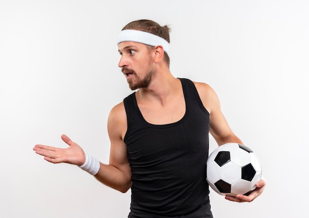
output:
{"label": "plain white background surrounding the man and ball", "polygon": [[107,117],[131,93],[116,36],[137,19],[170,24],[173,75],[211,85],[261,159],[264,193],[239,204],[211,190],[214,217],[304,217],[308,11],[307,0],[0,0],[0,217],[127,217],[130,192],[32,148],[66,147],[67,134],[108,163]]}

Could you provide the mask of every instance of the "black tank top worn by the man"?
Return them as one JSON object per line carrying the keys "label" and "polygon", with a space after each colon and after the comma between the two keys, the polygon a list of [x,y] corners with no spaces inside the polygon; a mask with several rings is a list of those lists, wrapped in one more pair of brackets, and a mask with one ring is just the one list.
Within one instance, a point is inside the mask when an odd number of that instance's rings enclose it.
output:
{"label": "black tank top worn by the man", "polygon": [[148,123],[135,93],[123,100],[132,172],[130,218],[212,217],[206,182],[209,112],[193,82],[180,80],[186,112],[175,123]]}

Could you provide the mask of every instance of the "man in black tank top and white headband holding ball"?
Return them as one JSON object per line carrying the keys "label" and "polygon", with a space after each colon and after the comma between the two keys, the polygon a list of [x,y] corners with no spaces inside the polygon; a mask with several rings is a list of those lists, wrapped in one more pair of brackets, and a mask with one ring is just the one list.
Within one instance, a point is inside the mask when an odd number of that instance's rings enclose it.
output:
{"label": "man in black tank top and white headband holding ball", "polygon": [[[205,83],[175,78],[169,71],[169,28],[154,21],[127,24],[117,43],[129,87],[138,89],[109,114],[109,164],[62,135],[68,148],[36,145],[52,163],[76,164],[121,192],[131,188],[130,218],[212,218],[206,182],[208,135],[218,145],[242,142],[232,133],[214,90]],[[264,190],[261,180],[250,202]]]}

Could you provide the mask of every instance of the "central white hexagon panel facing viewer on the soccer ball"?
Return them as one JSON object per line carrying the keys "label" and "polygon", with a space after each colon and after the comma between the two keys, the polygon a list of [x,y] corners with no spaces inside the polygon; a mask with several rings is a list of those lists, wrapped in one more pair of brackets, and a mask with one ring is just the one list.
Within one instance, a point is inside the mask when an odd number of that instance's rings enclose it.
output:
{"label": "central white hexagon panel facing viewer on the soccer ball", "polygon": [[230,184],[241,179],[241,167],[229,162],[221,167],[221,179]]}

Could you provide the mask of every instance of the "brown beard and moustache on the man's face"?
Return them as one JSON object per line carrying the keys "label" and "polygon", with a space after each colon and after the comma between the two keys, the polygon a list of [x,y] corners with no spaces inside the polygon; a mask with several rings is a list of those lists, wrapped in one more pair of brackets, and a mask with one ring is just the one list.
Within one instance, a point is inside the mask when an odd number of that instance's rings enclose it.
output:
{"label": "brown beard and moustache on the man's face", "polygon": [[126,71],[128,73],[133,73],[133,75],[135,75],[135,80],[133,79],[128,79],[127,82],[129,84],[129,87],[130,89],[133,91],[133,90],[136,90],[136,89],[140,89],[140,88],[147,88],[150,84],[150,82],[152,81],[152,78],[153,78],[153,75],[154,75],[154,71],[151,70],[151,71],[148,71],[148,73],[146,73],[145,77],[144,78],[141,78],[139,77],[135,71],[133,70],[130,70],[126,67],[123,67],[122,70],[123,71]]}

